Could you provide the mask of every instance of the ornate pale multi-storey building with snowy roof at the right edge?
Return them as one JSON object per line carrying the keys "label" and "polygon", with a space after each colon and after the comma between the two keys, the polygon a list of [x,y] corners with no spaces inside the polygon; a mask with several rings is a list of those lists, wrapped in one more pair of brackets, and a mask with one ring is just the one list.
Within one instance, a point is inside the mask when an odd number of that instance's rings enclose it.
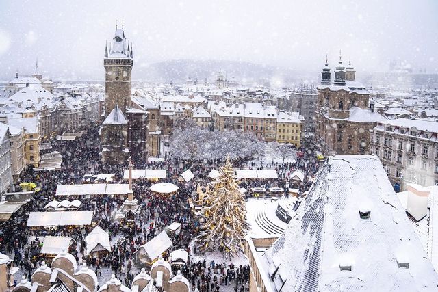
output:
{"label": "ornate pale multi-storey building with snowy roof at the right edge", "polygon": [[372,132],[370,152],[377,155],[391,183],[438,185],[438,124],[399,118],[379,122]]}

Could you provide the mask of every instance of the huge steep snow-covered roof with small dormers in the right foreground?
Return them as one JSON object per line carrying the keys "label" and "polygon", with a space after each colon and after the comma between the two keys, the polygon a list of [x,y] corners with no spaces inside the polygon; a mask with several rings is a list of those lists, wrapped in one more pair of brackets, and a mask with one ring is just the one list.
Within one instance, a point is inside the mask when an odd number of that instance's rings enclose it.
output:
{"label": "huge steep snow-covered roof with small dormers in the right foreground", "polygon": [[381,162],[371,155],[329,157],[285,233],[260,260],[268,291],[436,291],[438,285]]}

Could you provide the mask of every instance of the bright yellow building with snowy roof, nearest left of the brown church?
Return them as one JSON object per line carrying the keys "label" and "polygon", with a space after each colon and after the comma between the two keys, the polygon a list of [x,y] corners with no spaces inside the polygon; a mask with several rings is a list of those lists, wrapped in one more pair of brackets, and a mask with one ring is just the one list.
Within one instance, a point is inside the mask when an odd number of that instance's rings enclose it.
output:
{"label": "bright yellow building with snowy roof, nearest left of the brown church", "polygon": [[279,112],[276,119],[276,142],[291,143],[296,147],[301,145],[301,120],[298,112],[287,114]]}

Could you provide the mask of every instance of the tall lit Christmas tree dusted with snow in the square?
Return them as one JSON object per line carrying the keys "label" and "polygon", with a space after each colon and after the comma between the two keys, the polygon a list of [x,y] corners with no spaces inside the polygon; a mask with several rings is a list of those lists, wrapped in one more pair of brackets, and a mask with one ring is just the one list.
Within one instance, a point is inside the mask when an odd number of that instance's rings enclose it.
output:
{"label": "tall lit Christmas tree dusted with snow in the square", "polygon": [[204,205],[205,221],[197,239],[199,250],[220,250],[226,258],[243,252],[244,236],[248,232],[245,198],[229,159],[205,194]]}

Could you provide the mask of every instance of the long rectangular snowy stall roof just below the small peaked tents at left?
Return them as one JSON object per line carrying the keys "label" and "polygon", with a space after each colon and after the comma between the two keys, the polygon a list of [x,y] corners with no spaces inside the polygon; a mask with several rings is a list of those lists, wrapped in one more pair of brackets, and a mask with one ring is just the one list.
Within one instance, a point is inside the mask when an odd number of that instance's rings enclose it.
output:
{"label": "long rectangular snowy stall roof just below the small peaked tents at left", "polygon": [[92,211],[31,212],[27,226],[90,225]]}

